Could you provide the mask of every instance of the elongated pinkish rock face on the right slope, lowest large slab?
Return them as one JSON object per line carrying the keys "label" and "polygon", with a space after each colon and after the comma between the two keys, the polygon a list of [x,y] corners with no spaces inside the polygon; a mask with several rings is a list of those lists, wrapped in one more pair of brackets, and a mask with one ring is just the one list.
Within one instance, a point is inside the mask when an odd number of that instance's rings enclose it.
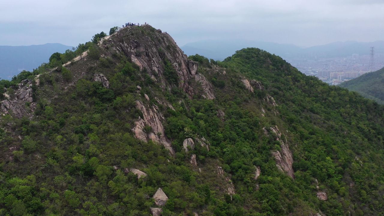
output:
{"label": "elongated pinkish rock face on the right slope, lowest large slab", "polygon": [[[266,128],[263,128],[264,133],[268,135],[268,131]],[[280,169],[281,171],[284,171],[286,174],[291,176],[291,178],[295,178],[295,175],[293,174],[293,158],[292,153],[288,146],[288,141],[285,139],[281,139],[281,133],[279,131],[279,128],[275,125],[274,127],[270,128],[270,132],[275,134],[275,140],[280,142],[280,151],[274,151],[272,152],[272,155],[275,157],[276,161],[276,167]]]}

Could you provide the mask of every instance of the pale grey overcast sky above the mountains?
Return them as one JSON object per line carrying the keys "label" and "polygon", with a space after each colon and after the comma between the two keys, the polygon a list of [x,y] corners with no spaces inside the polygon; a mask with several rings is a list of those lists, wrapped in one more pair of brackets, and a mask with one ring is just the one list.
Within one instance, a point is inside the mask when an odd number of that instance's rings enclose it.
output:
{"label": "pale grey overcast sky above the mountains", "polygon": [[76,46],[126,22],[178,45],[248,39],[300,46],[384,40],[384,0],[0,0],[0,45]]}

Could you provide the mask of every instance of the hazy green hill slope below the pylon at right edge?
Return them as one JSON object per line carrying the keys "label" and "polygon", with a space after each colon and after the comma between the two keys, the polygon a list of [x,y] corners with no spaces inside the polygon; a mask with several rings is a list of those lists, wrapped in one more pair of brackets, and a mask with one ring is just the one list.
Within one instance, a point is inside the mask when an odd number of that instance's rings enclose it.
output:
{"label": "hazy green hill slope below the pylon at right edge", "polygon": [[384,104],[384,68],[366,73],[356,79],[349,80],[340,84],[341,87],[351,91],[357,91],[362,96]]}

